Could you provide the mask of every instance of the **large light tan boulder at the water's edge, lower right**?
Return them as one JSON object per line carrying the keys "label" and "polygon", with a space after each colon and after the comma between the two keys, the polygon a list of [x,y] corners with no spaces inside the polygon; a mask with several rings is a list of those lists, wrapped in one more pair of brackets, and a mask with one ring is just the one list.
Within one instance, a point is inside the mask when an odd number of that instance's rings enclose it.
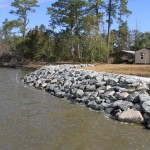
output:
{"label": "large light tan boulder at the water's edge, lower right", "polygon": [[137,110],[128,109],[123,111],[118,116],[119,121],[132,122],[132,123],[143,123],[144,119],[141,113]]}

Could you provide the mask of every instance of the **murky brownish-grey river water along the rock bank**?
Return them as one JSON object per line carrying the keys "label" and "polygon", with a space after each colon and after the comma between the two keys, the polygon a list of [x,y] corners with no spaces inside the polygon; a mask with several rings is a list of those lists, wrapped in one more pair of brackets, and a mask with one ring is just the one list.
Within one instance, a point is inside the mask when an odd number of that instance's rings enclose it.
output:
{"label": "murky brownish-grey river water along the rock bank", "polygon": [[0,150],[149,150],[150,131],[24,85],[0,68]]}

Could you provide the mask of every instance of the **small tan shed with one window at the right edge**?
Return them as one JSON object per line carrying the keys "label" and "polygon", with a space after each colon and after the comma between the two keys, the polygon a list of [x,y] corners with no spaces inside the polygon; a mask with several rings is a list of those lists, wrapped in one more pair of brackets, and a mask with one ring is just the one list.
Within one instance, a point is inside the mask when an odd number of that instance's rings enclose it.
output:
{"label": "small tan shed with one window at the right edge", "polygon": [[143,48],[135,52],[136,64],[150,64],[150,49]]}

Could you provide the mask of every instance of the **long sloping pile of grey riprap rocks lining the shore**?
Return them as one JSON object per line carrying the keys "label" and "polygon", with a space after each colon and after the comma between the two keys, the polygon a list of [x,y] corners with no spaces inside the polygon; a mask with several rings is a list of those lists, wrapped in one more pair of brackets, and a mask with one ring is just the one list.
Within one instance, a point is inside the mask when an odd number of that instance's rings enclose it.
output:
{"label": "long sloping pile of grey riprap rocks lining the shore", "polygon": [[92,65],[45,66],[22,81],[52,95],[67,97],[110,117],[144,124],[150,129],[150,83],[111,73],[77,70]]}

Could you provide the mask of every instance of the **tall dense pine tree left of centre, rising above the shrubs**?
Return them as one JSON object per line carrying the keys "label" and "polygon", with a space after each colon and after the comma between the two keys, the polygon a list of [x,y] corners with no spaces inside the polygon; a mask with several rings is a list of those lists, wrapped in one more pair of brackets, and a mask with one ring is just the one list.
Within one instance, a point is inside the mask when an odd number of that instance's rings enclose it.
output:
{"label": "tall dense pine tree left of centre, rising above the shrubs", "polygon": [[78,58],[81,57],[80,33],[85,4],[85,0],[58,0],[48,8],[50,26],[53,29],[62,28],[67,35],[70,34],[70,52],[73,59],[76,53]]}

